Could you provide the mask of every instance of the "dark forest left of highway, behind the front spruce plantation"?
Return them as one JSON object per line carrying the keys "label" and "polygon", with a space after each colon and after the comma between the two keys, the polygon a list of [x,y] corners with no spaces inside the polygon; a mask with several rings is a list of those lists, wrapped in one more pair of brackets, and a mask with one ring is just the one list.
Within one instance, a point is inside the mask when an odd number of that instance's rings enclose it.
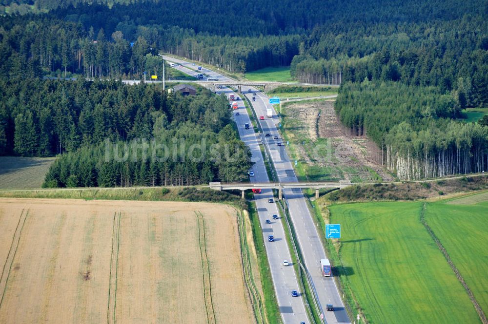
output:
{"label": "dark forest left of highway, behind the front spruce plantation", "polygon": [[153,85],[110,81],[23,80],[0,83],[0,152],[46,156],[111,140],[151,138],[191,122],[219,132],[228,102],[199,90],[167,95]]}

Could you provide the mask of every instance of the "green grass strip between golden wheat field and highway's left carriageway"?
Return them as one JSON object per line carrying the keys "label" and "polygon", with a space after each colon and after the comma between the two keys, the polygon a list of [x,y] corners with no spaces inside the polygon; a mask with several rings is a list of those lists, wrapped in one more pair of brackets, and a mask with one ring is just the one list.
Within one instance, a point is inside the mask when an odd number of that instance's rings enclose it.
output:
{"label": "green grass strip between golden wheat field and highway's left carriageway", "polygon": [[252,238],[256,248],[258,258],[259,274],[263,286],[264,295],[264,309],[267,323],[281,323],[281,315],[278,304],[275,298],[275,291],[273,287],[273,279],[269,271],[269,262],[264,248],[264,239],[261,232],[261,224],[259,222],[258,210],[256,204],[248,203],[249,219],[251,221]]}

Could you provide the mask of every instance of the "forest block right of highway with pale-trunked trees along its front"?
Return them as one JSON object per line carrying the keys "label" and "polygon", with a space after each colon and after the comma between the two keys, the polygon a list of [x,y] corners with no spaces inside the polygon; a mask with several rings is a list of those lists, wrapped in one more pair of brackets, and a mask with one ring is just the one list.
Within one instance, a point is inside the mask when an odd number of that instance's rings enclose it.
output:
{"label": "forest block right of highway with pale-trunked trees along its front", "polygon": [[392,81],[346,83],[336,112],[351,134],[374,141],[369,157],[402,180],[481,172],[488,167],[488,127],[454,120],[468,96]]}

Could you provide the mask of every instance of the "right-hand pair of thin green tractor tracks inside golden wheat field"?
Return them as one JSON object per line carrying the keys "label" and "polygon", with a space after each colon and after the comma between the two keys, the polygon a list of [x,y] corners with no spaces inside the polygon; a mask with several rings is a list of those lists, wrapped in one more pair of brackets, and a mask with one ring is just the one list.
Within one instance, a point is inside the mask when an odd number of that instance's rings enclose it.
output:
{"label": "right-hand pair of thin green tractor tracks inside golden wheat field", "polygon": [[202,260],[202,277],[203,277],[203,301],[207,313],[207,323],[216,324],[215,310],[212,302],[212,282],[210,279],[210,266],[208,263],[207,248],[205,241],[205,221],[200,211],[195,211],[198,226],[198,241],[200,247],[200,259]]}

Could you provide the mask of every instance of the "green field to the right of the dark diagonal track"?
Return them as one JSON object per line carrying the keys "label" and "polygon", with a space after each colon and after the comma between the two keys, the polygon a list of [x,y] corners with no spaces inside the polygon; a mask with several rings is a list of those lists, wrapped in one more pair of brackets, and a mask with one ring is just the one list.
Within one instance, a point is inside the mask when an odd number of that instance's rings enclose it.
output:
{"label": "green field to the right of the dark diagonal track", "polygon": [[[477,202],[479,196],[480,201]],[[467,198],[473,202],[467,204]],[[428,204],[426,221],[446,248],[481,308],[488,313],[488,195]]]}

